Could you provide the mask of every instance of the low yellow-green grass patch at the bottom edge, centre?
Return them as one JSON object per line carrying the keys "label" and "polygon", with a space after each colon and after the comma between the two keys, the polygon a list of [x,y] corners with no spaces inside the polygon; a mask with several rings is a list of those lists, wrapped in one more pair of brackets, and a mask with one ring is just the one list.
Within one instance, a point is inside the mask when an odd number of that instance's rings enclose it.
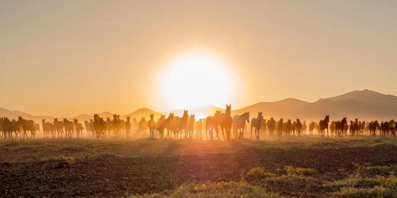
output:
{"label": "low yellow-green grass patch at the bottom edge, centre", "polygon": [[170,196],[146,194],[131,198],[281,198],[278,194],[267,192],[266,188],[241,182],[206,182],[202,184],[185,184],[177,187]]}

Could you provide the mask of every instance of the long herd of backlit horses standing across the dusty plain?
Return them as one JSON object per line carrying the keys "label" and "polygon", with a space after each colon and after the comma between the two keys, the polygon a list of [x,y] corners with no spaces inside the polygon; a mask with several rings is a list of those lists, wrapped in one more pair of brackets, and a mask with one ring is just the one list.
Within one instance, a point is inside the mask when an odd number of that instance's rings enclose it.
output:
{"label": "long herd of backlit horses standing across the dusty plain", "polygon": [[[101,118],[98,114],[94,114],[94,118],[84,121],[83,124],[79,123],[77,119],[72,121],[66,118],[63,121],[58,121],[58,118],[54,118],[54,122],[46,122],[42,119],[42,129],[44,137],[51,138],[73,138],[74,132],[77,133],[77,138],[83,137],[83,129],[86,129],[87,134],[96,139],[106,139],[106,137],[131,137],[130,133],[147,135],[149,131],[149,138],[154,138],[154,134],[160,139],[167,138],[200,138],[206,137],[206,139],[220,140],[220,133],[222,139],[243,139],[244,132],[247,131],[250,123],[251,135],[254,132],[255,139],[260,139],[260,136],[274,136],[280,137],[282,135],[291,136],[297,135],[298,137],[302,134],[306,134],[308,129],[309,135],[313,135],[314,131],[321,137],[325,136],[327,131],[327,137],[329,135],[335,137],[347,136],[348,132],[350,136],[358,135],[377,135],[379,131],[380,136],[393,135],[397,129],[397,123],[394,120],[387,122],[382,121],[378,123],[377,120],[371,122],[359,121],[356,118],[354,121],[351,120],[350,124],[347,122],[347,118],[343,117],[341,120],[332,121],[330,123],[330,116],[326,115],[323,120],[319,122],[311,121],[308,126],[306,121],[301,122],[298,119],[295,121],[287,120],[284,122],[283,118],[278,121],[271,117],[266,120],[262,116],[262,112],[258,112],[258,115],[250,120],[250,112],[244,112],[240,115],[231,116],[231,105],[226,105],[225,113],[216,111],[214,116],[207,116],[203,119],[195,119],[195,114],[188,114],[187,110],[183,111],[183,116],[174,116],[170,113],[166,118],[165,115],[161,115],[157,121],[154,120],[154,114],[150,114],[150,120],[146,120],[142,117],[138,122],[135,118],[130,121],[130,117],[127,116],[127,120],[120,119],[120,115],[113,114],[113,119],[107,117],[106,120]],[[215,137],[214,137],[215,130]],[[0,118],[0,137],[4,139],[14,139],[13,133],[15,133],[15,139],[23,139],[25,136],[29,138],[28,133],[30,132],[30,138],[35,138],[36,131],[40,132],[40,125],[35,123],[33,120],[25,120],[21,116],[18,116],[18,120],[9,120],[7,117]],[[331,134],[329,134],[329,131]],[[64,136],[63,136],[64,135]]]}

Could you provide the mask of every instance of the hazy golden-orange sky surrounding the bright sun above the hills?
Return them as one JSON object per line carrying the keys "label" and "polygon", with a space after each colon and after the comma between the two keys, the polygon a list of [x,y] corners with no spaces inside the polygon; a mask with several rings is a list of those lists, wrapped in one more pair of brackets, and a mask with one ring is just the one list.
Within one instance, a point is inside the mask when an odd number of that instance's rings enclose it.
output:
{"label": "hazy golden-orange sky surrounding the bright sun above the hills", "polygon": [[[397,95],[393,0],[2,0],[0,19],[0,107],[33,115]],[[170,63],[192,51],[221,60],[231,91],[164,97]]]}

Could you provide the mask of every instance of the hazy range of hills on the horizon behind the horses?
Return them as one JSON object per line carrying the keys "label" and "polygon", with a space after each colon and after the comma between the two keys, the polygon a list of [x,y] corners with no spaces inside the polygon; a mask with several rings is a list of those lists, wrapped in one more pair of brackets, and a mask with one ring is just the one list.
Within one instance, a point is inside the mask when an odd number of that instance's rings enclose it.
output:
{"label": "hazy range of hills on the horizon behind the horses", "polygon": [[[189,114],[195,114],[196,118],[204,118],[208,115],[213,115],[216,110],[225,112],[225,109],[220,107],[204,105],[189,109]],[[343,116],[347,116],[348,120],[353,120],[354,118],[359,118],[360,120],[390,120],[397,118],[397,97],[365,89],[362,91],[351,91],[335,97],[319,99],[314,103],[287,98],[275,102],[260,102],[237,110],[233,110],[232,105],[232,116],[242,114],[245,111],[250,111],[251,118],[256,117],[258,112],[263,112],[265,118],[274,117],[276,120],[279,118],[291,120],[300,118],[301,120],[309,121],[320,120],[324,118],[326,114],[330,115],[331,120],[340,120]],[[168,116],[170,112],[173,112],[176,116],[182,116],[183,109],[160,113],[147,108],[141,108],[129,114],[122,115],[120,118],[125,120],[126,116],[131,116],[131,119],[137,118],[137,120],[140,120],[141,117],[146,117],[146,120],[148,120],[149,114],[154,114],[154,118],[156,119],[159,118],[161,114]],[[11,119],[17,119],[17,115],[25,119],[34,120],[40,124],[42,118],[45,118],[46,121],[49,122],[54,120],[52,116],[32,116],[26,112],[0,108],[0,117],[7,116]],[[102,118],[113,118],[112,112],[102,112],[99,115]],[[79,122],[83,123],[84,120],[92,119],[93,114],[80,114],[73,118],[77,118]],[[68,119],[72,120],[72,118]]]}

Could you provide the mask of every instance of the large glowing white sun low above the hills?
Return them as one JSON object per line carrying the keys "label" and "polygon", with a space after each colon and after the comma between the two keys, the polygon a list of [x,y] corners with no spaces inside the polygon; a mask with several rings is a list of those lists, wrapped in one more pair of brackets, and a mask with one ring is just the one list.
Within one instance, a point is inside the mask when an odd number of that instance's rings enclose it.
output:
{"label": "large glowing white sun low above the hills", "polygon": [[160,87],[167,109],[189,109],[202,105],[223,107],[232,103],[231,67],[203,52],[186,53],[164,67]]}

